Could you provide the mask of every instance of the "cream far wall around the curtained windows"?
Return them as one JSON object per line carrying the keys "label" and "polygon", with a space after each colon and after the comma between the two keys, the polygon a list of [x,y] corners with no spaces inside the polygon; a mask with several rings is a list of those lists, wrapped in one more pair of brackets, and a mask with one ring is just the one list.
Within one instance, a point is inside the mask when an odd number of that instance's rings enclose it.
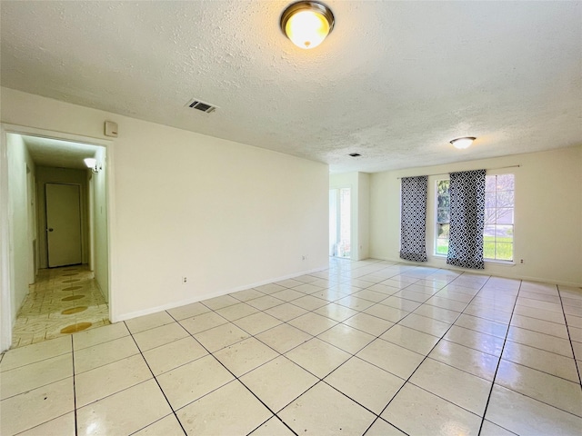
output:
{"label": "cream far wall around the curtained windows", "polygon": [[[516,264],[487,263],[485,273],[541,282],[582,285],[582,146],[496,159],[410,168],[370,176],[370,255],[399,261],[400,180],[398,177],[509,168],[515,173]],[[428,178],[426,250],[428,264],[447,268],[434,256],[435,181]],[[524,263],[518,263],[523,259]]]}

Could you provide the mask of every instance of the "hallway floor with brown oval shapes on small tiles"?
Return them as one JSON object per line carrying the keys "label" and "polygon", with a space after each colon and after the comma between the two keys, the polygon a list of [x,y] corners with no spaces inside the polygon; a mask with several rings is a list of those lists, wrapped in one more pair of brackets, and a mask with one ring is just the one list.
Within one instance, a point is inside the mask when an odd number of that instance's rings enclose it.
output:
{"label": "hallway floor with brown oval shapes on small tiles", "polygon": [[108,305],[86,265],[39,270],[18,312],[11,348],[109,323]]}

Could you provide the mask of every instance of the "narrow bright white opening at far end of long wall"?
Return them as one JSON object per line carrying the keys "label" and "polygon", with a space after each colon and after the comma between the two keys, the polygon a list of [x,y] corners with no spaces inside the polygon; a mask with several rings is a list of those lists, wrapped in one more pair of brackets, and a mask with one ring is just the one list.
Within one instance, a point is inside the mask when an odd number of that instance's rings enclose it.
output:
{"label": "narrow bright white opening at far end of long wall", "polygon": [[329,255],[351,257],[351,188],[329,190]]}

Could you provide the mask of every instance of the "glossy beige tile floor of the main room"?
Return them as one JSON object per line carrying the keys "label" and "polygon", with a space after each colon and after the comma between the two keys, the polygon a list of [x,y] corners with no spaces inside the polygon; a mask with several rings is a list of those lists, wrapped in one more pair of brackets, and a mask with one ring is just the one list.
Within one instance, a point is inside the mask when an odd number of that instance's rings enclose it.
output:
{"label": "glossy beige tile floor of the main room", "polygon": [[579,288],[332,260],[6,352],[0,432],[580,435],[580,369]]}

